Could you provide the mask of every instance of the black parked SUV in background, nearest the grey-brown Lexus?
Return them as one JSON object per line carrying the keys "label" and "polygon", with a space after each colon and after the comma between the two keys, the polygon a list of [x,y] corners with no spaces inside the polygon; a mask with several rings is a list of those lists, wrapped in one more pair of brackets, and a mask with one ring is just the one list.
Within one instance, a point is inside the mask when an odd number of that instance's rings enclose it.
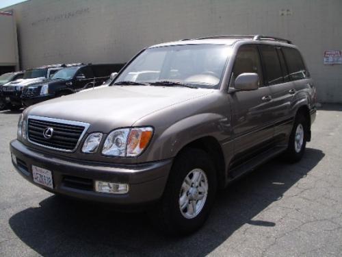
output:
{"label": "black parked SUV in background, nearest the grey-brown Lexus", "polygon": [[21,101],[31,106],[41,101],[70,95],[86,88],[100,86],[111,73],[120,71],[124,64],[79,64],[57,71],[51,79],[23,88]]}

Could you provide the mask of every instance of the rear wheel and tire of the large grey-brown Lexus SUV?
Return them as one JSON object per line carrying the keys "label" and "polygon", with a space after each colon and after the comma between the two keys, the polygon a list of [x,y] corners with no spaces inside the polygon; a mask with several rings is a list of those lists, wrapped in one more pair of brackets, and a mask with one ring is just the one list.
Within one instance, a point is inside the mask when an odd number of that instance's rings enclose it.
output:
{"label": "rear wheel and tire of the large grey-brown Lexus SUV", "polygon": [[302,159],[306,147],[306,138],[308,138],[308,129],[308,123],[305,117],[302,114],[298,114],[295,117],[289,138],[289,145],[285,152],[287,161],[298,162]]}

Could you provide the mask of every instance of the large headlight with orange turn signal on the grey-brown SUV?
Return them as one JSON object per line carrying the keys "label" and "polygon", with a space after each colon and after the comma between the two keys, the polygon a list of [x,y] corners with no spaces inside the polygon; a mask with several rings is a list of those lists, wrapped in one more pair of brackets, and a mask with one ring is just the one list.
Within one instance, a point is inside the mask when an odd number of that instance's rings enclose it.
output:
{"label": "large headlight with orange turn signal on the grey-brown SUV", "polygon": [[153,135],[152,127],[134,127],[114,130],[103,145],[105,156],[135,157],[146,149]]}

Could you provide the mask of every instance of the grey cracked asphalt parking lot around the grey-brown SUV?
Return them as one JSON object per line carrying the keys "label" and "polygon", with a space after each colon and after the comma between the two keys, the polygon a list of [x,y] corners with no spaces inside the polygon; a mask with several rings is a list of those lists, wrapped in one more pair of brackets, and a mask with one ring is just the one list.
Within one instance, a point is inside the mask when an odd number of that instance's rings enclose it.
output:
{"label": "grey cracked asphalt parking lot around the grey-brown SUV", "polygon": [[144,213],[56,197],[11,164],[20,112],[0,112],[0,256],[342,256],[342,106],[317,112],[301,162],[272,160],[218,193],[191,236]]}

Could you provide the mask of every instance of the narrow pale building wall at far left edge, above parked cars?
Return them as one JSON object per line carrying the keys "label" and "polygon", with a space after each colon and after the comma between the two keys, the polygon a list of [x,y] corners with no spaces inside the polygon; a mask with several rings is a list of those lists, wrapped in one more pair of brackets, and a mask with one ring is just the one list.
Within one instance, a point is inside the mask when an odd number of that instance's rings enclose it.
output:
{"label": "narrow pale building wall at far left edge, above parked cars", "polygon": [[18,41],[14,16],[0,14],[0,66],[18,69]]}

